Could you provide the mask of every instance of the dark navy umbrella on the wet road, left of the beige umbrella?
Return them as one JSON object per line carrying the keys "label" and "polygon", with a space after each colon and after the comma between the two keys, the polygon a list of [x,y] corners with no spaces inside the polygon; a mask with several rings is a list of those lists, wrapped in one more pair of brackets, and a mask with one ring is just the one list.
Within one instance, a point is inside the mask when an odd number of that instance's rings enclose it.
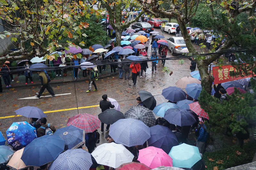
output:
{"label": "dark navy umbrella on the wet road, left of the beige umbrella", "polygon": [[162,95],[165,99],[170,100],[172,102],[177,102],[180,100],[185,100],[187,98],[187,94],[181,90],[179,87],[170,86],[162,90]]}

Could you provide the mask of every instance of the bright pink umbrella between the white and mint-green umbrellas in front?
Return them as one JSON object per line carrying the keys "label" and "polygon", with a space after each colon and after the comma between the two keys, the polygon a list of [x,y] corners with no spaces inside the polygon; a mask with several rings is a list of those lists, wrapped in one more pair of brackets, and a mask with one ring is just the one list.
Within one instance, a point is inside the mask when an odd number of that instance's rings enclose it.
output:
{"label": "bright pink umbrella between the white and mint-green umbrellas in front", "polygon": [[141,149],[138,161],[154,169],[159,166],[172,166],[172,158],[162,149],[154,146]]}

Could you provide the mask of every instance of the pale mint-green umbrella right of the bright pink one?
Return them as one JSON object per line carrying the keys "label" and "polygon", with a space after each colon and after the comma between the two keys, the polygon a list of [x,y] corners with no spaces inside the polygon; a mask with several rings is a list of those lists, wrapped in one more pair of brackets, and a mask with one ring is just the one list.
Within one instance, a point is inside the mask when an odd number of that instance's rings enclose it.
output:
{"label": "pale mint-green umbrella right of the bright pink one", "polygon": [[201,159],[198,147],[188,144],[173,146],[169,156],[172,158],[172,166],[180,168],[191,168]]}

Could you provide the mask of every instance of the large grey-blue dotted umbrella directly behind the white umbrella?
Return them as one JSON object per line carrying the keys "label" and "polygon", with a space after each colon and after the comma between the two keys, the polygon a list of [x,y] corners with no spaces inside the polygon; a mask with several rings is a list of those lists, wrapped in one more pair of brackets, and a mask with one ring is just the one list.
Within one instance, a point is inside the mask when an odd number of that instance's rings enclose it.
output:
{"label": "large grey-blue dotted umbrella directly behind the white umbrella", "polygon": [[150,130],[142,121],[127,118],[113,123],[109,135],[116,143],[131,147],[144,144],[150,137]]}

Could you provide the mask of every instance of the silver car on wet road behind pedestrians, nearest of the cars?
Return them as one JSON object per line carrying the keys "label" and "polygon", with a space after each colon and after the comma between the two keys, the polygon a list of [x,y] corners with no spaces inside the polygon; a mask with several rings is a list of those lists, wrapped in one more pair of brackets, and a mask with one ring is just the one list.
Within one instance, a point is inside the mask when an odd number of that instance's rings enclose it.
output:
{"label": "silver car on wet road behind pedestrians, nearest of the cars", "polygon": [[170,37],[166,39],[171,54],[181,53],[180,50],[187,48],[183,37]]}

